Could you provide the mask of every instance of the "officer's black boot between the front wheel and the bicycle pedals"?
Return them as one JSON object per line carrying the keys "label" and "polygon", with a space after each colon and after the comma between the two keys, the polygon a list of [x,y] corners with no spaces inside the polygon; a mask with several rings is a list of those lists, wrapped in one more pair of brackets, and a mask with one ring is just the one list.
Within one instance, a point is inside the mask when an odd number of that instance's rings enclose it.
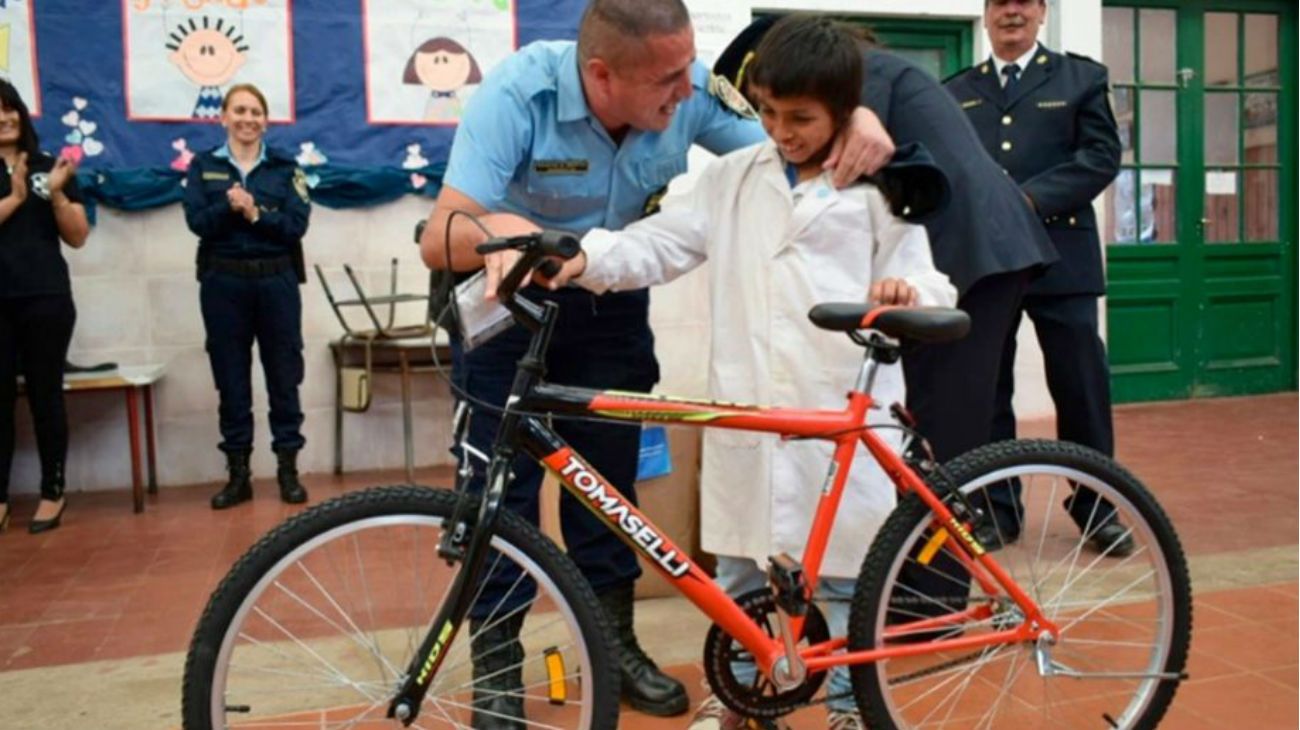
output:
{"label": "officer's black boot between the front wheel and the bicycle pedals", "polygon": [[632,583],[597,596],[619,640],[619,674],[625,703],[646,714],[671,717],[690,707],[686,687],[655,666],[632,630]]}

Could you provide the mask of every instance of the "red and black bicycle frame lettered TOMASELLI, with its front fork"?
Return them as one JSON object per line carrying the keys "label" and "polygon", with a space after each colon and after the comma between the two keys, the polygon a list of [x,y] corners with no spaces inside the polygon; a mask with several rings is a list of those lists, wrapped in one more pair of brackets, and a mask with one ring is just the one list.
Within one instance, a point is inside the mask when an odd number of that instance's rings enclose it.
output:
{"label": "red and black bicycle frame lettered TOMASELLI, with its front fork", "polygon": [[[575,242],[576,245],[576,242]],[[472,590],[484,559],[491,526],[500,508],[502,496],[507,488],[510,464],[516,453],[523,451],[547,469],[554,472],[560,483],[580,503],[633,551],[667,578],[672,586],[685,595],[696,607],[718,623],[751,653],[759,670],[772,678],[777,687],[786,685],[775,675],[775,668],[783,660],[789,670],[786,677],[794,677],[793,683],[802,681],[805,672],[824,672],[832,666],[864,664],[885,659],[936,653],[949,649],[970,649],[992,644],[1018,643],[1041,638],[1056,639],[1058,627],[1046,620],[1034,600],[1015,583],[993,557],[971,535],[944,501],[892,448],[867,426],[867,412],[874,405],[871,386],[876,368],[883,357],[878,357],[870,347],[863,359],[857,383],[848,396],[842,410],[806,410],[794,408],[763,408],[732,403],[692,400],[649,394],[618,391],[595,391],[589,388],[556,386],[542,382],[545,355],[550,346],[551,330],[558,317],[554,303],[537,305],[526,299],[515,297],[514,292],[523,277],[538,264],[542,255],[528,251],[499,284],[502,304],[510,309],[516,322],[533,333],[526,355],[520,360],[515,374],[511,396],[507,400],[497,433],[491,461],[488,466],[486,487],[481,497],[478,520],[468,538],[468,548],[448,544],[463,538],[445,538],[439,546],[443,556],[455,555],[464,560],[464,569],[458,574],[448,590],[446,603],[430,625],[430,630],[408,668],[408,677],[402,690],[389,705],[389,717],[395,717],[410,725],[419,716],[424,692],[437,674],[445,657],[445,648],[455,639],[458,627],[468,616],[472,603]],[[874,340],[885,344],[884,340]],[[927,546],[933,551],[948,551],[970,572],[982,590],[989,596],[1005,592],[1023,612],[1024,621],[1018,627],[988,633],[980,636],[961,636],[945,640],[932,640],[913,644],[893,646],[857,652],[838,653],[848,640],[844,636],[832,638],[814,646],[798,649],[798,657],[786,656],[786,643],[794,647],[802,636],[803,620],[790,617],[792,636],[768,636],[741,608],[725,594],[694,561],[690,560],[663,531],[641,510],[638,510],[619,490],[599,474],[580,453],[573,451],[564,439],[540,418],[529,413],[584,414],[630,422],[673,422],[685,426],[733,429],[780,434],[785,438],[822,439],[835,443],[831,472],[823,485],[814,514],[809,540],[803,552],[803,572],[807,577],[807,591],[811,596],[816,590],[822,559],[829,543],[831,527],[844,495],[853,456],[861,443],[880,462],[893,481],[900,495],[916,492],[920,500],[935,516],[942,535],[939,544]],[[463,474],[464,475],[464,474]],[[460,533],[462,526],[454,517],[447,535]],[[939,542],[939,540],[933,540]],[[885,630],[885,638],[910,631],[926,630],[962,623],[968,620],[984,620],[992,616],[987,605],[967,608],[946,616],[937,616]],[[786,640],[789,639],[789,640]]]}

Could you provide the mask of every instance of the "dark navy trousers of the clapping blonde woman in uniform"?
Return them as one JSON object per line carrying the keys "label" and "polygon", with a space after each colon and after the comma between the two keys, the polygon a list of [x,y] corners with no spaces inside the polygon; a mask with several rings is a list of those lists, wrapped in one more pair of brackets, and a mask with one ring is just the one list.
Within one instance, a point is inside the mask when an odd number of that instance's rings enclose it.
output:
{"label": "dark navy trousers of the clapping blonde woman in uniform", "polygon": [[199,282],[208,361],[221,394],[221,451],[252,448],[254,340],[266,377],[272,448],[302,448],[303,299],[296,275],[292,270],[264,277],[205,271]]}

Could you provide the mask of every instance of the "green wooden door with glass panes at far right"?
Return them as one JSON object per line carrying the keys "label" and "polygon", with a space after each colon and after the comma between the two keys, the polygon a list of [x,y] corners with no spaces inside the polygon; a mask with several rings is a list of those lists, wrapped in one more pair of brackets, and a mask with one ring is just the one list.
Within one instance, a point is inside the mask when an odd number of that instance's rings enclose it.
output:
{"label": "green wooden door with glass panes at far right", "polygon": [[1296,6],[1108,3],[1117,401],[1296,387]]}

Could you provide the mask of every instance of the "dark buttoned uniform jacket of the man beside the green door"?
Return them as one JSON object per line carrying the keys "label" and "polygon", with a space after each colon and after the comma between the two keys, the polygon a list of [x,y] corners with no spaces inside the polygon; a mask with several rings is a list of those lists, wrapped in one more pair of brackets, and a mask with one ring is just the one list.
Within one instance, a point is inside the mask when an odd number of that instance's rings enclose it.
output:
{"label": "dark buttoned uniform jacket of the man beside the green door", "polygon": [[1034,201],[1061,255],[1030,294],[1104,294],[1092,200],[1119,171],[1119,134],[1106,68],[1039,47],[1004,95],[984,61],[945,81],[980,142]]}

